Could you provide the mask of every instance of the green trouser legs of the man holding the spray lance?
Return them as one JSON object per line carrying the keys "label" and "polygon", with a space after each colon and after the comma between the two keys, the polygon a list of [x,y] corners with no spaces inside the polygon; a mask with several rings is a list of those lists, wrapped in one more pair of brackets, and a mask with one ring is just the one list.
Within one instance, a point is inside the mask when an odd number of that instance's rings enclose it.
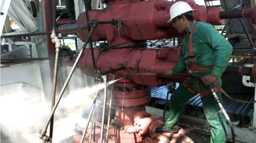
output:
{"label": "green trouser legs of the man holding the spray lance", "polygon": [[[196,94],[186,90],[183,83],[177,88],[177,90],[171,95],[169,104],[169,115],[165,121],[165,126],[168,128],[176,128],[176,123],[179,115],[182,112],[183,105]],[[218,97],[222,103],[222,97],[220,92],[217,92]],[[219,105],[215,101],[213,95],[207,95],[202,98],[203,111],[205,117],[210,124],[211,141],[210,143],[226,143],[227,139],[227,125],[226,118],[222,113]]]}

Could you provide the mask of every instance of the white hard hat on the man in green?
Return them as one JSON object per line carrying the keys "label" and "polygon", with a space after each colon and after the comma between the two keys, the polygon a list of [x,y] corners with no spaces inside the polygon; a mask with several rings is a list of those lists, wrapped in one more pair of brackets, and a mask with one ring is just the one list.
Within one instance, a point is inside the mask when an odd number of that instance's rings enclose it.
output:
{"label": "white hard hat on the man in green", "polygon": [[170,8],[171,19],[167,21],[167,23],[171,22],[175,17],[182,15],[183,13],[192,12],[192,9],[188,3],[184,1],[176,2]]}

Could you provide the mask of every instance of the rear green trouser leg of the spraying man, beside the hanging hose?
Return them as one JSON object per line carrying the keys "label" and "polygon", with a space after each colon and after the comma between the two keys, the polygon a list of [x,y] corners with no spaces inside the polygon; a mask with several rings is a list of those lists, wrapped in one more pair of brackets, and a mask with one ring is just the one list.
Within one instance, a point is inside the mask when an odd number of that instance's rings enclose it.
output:
{"label": "rear green trouser leg of the spraying man, beside the hanging hose", "polygon": [[[220,92],[217,92],[218,97],[222,103]],[[210,124],[211,142],[210,143],[226,143],[227,139],[227,125],[226,118],[222,113],[219,105],[215,101],[213,95],[207,95],[202,98],[203,111],[205,117]]]}

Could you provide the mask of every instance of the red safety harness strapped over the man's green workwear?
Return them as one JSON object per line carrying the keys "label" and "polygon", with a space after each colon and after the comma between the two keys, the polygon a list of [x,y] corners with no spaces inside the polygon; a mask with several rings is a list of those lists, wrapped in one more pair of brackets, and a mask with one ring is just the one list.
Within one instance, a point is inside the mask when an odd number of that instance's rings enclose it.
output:
{"label": "red safety harness strapped over the man's green workwear", "polygon": [[[195,22],[196,24],[196,22]],[[192,31],[189,35],[189,61],[192,63],[193,66],[189,66],[189,65],[186,65],[186,69],[189,71],[189,73],[192,73],[193,71],[194,72],[198,72],[198,71],[202,71],[202,70],[208,70],[208,69],[211,69],[214,67],[214,65],[210,65],[210,66],[198,66],[196,64],[196,57],[194,55],[194,52],[193,52],[193,45],[192,45],[192,35],[193,35],[193,31],[194,31],[194,27],[195,27],[195,24],[194,26],[192,27]],[[183,51],[183,43],[184,43],[184,38],[182,40],[182,44],[179,46],[178,48],[178,54],[180,54],[180,48],[182,48],[182,53],[183,53],[183,56],[184,56],[184,51]],[[211,90],[207,90],[207,91],[201,91],[200,90],[200,87],[199,87],[199,79],[195,77],[195,85],[196,85],[196,89],[197,91],[194,91],[193,89],[191,89],[189,87],[189,83],[190,83],[190,80],[191,80],[192,77],[187,77],[184,81],[184,86],[185,88],[192,92],[192,93],[195,93],[195,94],[198,94],[200,93],[200,96],[201,96],[201,99],[209,94],[211,94]],[[213,83],[213,90],[215,92],[222,92],[221,89],[218,88],[218,84],[219,84],[219,79],[217,78],[214,83]]]}

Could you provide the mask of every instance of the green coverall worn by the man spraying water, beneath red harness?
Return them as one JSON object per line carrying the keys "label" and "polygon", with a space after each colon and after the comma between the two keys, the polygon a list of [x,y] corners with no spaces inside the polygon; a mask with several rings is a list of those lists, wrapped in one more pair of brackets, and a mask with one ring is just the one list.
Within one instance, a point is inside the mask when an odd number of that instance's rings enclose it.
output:
{"label": "green coverall worn by the man spraying water, beneath red harness", "polygon": [[[189,29],[189,35],[194,26]],[[185,33],[183,51],[179,56],[179,62],[172,68],[175,72],[182,72],[186,69],[186,65],[192,66],[189,62],[189,35]],[[194,28],[193,37],[193,51],[196,57],[196,63],[198,66],[210,66],[215,64],[214,68],[199,72],[208,72],[213,76],[218,77],[219,85],[221,88],[222,81],[220,76],[225,71],[226,66],[229,62],[229,58],[232,53],[232,45],[209,23],[197,22]],[[188,72],[188,71],[187,71]],[[194,72],[194,71],[193,71]],[[200,80],[201,91],[206,91],[207,88]],[[195,91],[196,84],[195,78],[191,78],[189,87]],[[171,95],[169,104],[169,115],[166,119],[165,126],[168,128],[177,128],[177,119],[181,114],[183,105],[196,94],[186,90],[183,83],[180,84],[178,89]],[[222,103],[220,92],[217,92],[218,97]],[[224,114],[222,113],[219,105],[215,101],[213,95],[207,95],[202,98],[203,110],[205,117],[210,124],[211,130],[211,141],[210,143],[226,143],[227,138],[227,126]]]}

